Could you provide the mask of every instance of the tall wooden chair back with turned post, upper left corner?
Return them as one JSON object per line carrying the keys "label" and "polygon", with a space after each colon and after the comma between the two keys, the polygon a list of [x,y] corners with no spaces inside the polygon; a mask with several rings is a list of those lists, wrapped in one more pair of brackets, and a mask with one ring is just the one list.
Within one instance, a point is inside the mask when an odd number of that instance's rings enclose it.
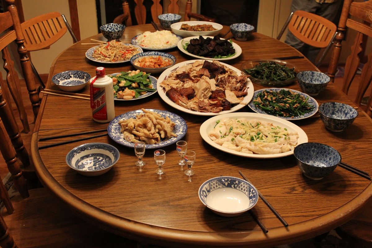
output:
{"label": "tall wooden chair back with turned post, upper left corner", "polygon": [[[20,64],[22,67],[23,76],[25,77],[26,87],[29,93],[30,101],[32,104],[33,115],[36,117],[39,112],[40,100],[38,96],[38,91],[35,86],[35,81],[33,78],[31,62],[27,56],[27,49],[24,46],[24,37],[20,27],[20,22],[18,18],[18,13],[14,0],[6,0],[7,12],[0,13],[0,33],[5,32],[0,36],[0,50],[3,52],[3,58],[7,58],[7,45],[11,44],[13,41],[17,44],[17,50],[20,56]],[[13,28],[13,30],[6,32],[8,28]],[[10,57],[9,57],[10,58]],[[8,61],[10,66],[12,62]],[[12,88],[12,84],[15,82],[9,80],[7,77],[7,83],[9,88]],[[2,84],[3,85],[3,84]],[[12,93],[13,94],[13,93]],[[16,101],[16,99],[15,99]]]}

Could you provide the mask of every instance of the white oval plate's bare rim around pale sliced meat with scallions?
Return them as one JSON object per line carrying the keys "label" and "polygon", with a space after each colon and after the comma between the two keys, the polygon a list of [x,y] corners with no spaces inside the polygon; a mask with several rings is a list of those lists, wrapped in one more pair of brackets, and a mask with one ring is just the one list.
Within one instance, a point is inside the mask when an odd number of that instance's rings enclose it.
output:
{"label": "white oval plate's bare rim around pale sliced meat with scallions", "polygon": [[302,144],[308,142],[308,138],[304,130],[302,130],[299,126],[295,125],[292,122],[289,122],[288,120],[281,119],[276,116],[271,116],[271,115],[264,115],[260,113],[248,113],[248,112],[237,112],[237,113],[228,113],[225,115],[219,115],[219,116],[214,116],[205,122],[200,126],[200,135],[204,139],[205,142],[207,142],[209,145],[213,146],[214,148],[217,148],[223,152],[227,152],[233,155],[237,155],[240,157],[247,157],[247,158],[281,158],[281,157],[286,157],[290,156],[293,154],[292,151],[288,152],[282,152],[278,154],[248,154],[244,152],[237,152],[231,149],[227,149],[221,145],[216,144],[213,142],[209,137],[208,133],[211,132],[216,125],[217,120],[221,120],[222,118],[230,118],[230,119],[235,119],[235,118],[246,118],[247,120],[251,119],[256,119],[256,120],[263,120],[265,122],[271,122],[274,125],[280,126],[282,128],[288,129],[288,131],[295,131],[298,133],[298,143],[297,144]]}

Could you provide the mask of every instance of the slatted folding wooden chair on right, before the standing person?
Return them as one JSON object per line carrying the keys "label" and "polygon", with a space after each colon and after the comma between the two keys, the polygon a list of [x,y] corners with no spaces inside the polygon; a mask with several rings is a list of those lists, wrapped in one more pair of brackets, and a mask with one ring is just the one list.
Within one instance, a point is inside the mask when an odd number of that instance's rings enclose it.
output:
{"label": "slatted folding wooden chair on right, before the standing person", "polygon": [[310,46],[325,48],[316,67],[324,59],[336,36],[336,25],[324,17],[302,10],[292,12],[276,39],[280,39],[287,28],[296,38]]}

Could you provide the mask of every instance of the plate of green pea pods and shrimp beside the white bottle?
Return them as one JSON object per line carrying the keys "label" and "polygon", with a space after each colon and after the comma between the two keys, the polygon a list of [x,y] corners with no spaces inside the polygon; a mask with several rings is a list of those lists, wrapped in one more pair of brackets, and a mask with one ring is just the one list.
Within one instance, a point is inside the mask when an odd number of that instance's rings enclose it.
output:
{"label": "plate of green pea pods and shrimp beside the white bottle", "polygon": [[114,82],[114,100],[116,101],[142,99],[157,92],[157,79],[143,71],[127,71],[108,76]]}

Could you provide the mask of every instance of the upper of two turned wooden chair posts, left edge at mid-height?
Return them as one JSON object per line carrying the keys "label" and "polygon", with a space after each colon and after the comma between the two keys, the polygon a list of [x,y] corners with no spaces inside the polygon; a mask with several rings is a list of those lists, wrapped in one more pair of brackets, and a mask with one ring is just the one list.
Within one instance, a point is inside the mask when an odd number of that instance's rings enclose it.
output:
{"label": "upper of two turned wooden chair posts, left edge at mid-height", "polygon": [[4,120],[4,126],[9,134],[10,140],[17,151],[18,157],[24,167],[30,165],[30,158],[28,152],[23,144],[22,137],[19,133],[19,128],[12,115],[12,110],[9,104],[3,98],[3,93],[0,90],[0,118]]}

